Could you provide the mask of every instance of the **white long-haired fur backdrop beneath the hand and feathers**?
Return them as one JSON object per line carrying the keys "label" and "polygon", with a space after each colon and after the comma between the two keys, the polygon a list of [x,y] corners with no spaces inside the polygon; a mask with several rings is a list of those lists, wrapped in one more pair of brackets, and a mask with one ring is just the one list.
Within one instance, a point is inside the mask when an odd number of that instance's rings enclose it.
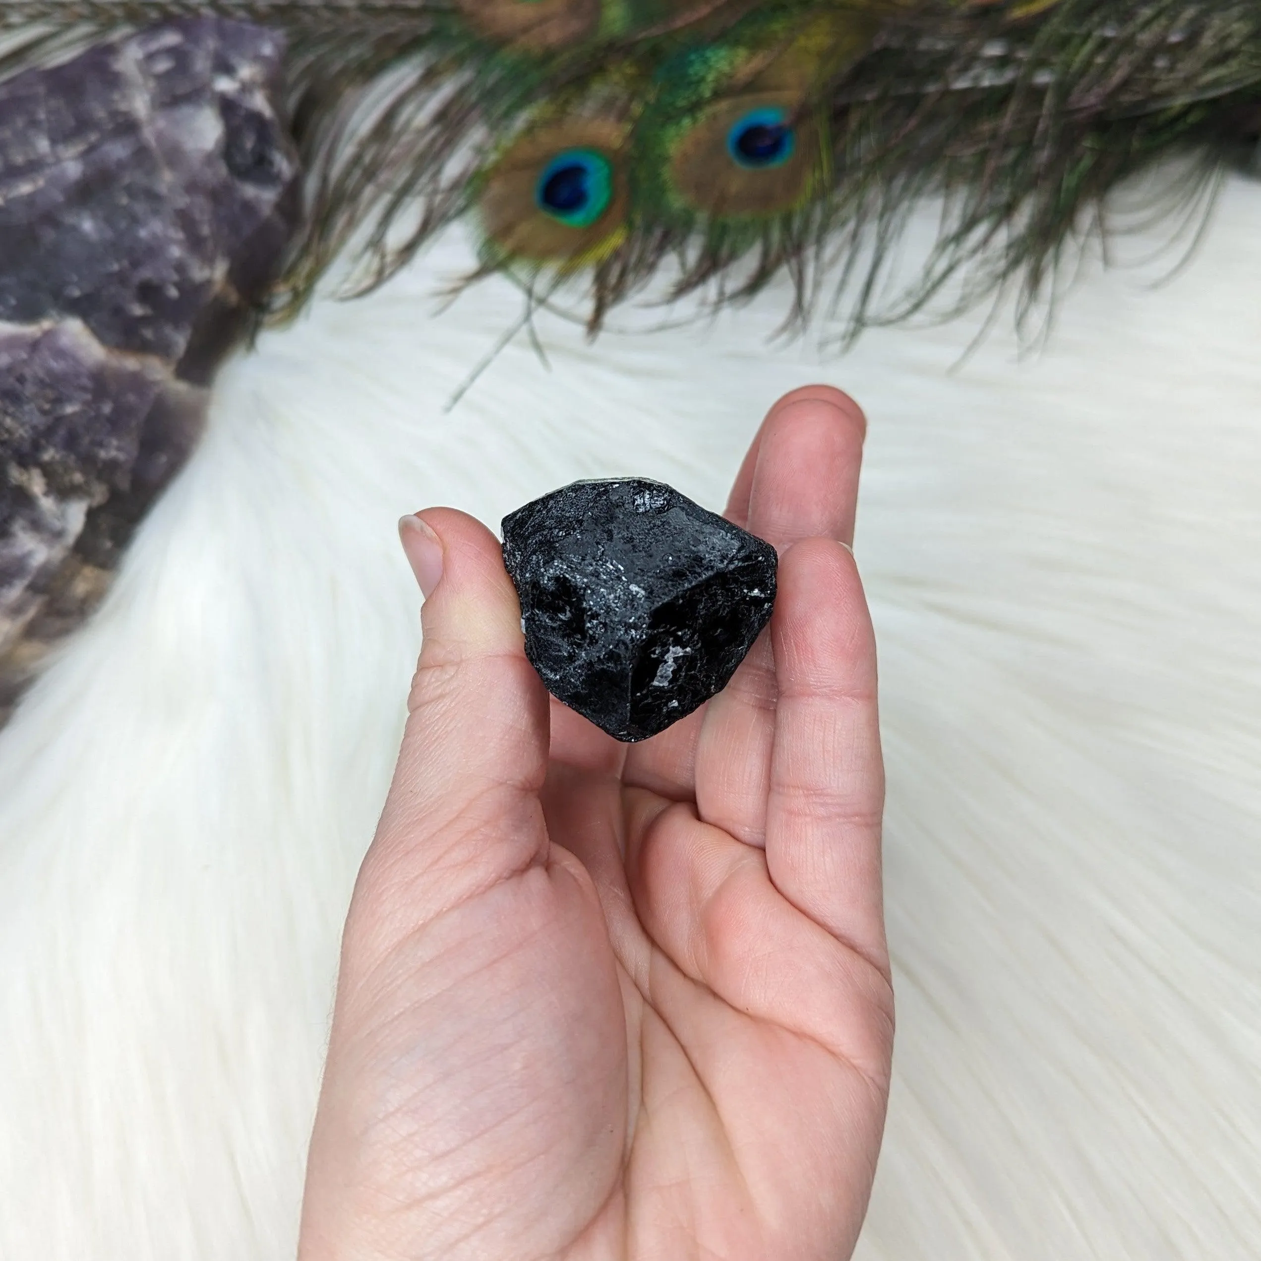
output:
{"label": "white long-haired fur backdrop beneath the hand and feathers", "polygon": [[[1144,242],[1139,241],[1141,246]],[[221,380],[0,735],[0,1257],[293,1253],[342,915],[417,648],[396,518],[575,477],[719,506],[812,378],[871,430],[899,1040],[863,1261],[1261,1255],[1261,185],[1049,349],[434,318],[458,237]],[[952,371],[955,368],[955,371]],[[802,1170],[808,1178],[810,1170]],[[773,1261],[773,1258],[768,1258]]]}

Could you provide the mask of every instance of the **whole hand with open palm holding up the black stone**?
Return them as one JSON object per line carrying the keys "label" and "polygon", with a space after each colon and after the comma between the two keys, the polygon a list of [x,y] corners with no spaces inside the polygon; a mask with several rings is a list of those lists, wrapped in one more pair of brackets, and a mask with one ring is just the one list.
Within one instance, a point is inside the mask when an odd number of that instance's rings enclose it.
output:
{"label": "whole hand with open palm holding up the black stone", "polygon": [[637,745],[550,701],[489,531],[405,523],[425,639],[300,1261],[850,1255],[893,1042],[863,427],[825,387],[772,409],[728,506],[781,550],[770,625]]}

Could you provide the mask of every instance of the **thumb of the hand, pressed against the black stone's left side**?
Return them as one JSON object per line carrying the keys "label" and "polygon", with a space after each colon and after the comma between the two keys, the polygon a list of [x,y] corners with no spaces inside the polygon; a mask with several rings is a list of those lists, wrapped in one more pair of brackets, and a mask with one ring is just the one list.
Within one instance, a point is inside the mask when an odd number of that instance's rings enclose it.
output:
{"label": "thumb of the hand, pressed against the black stone's left side", "polygon": [[451,508],[404,517],[400,535],[425,637],[361,886],[406,932],[546,859],[549,709],[494,536]]}

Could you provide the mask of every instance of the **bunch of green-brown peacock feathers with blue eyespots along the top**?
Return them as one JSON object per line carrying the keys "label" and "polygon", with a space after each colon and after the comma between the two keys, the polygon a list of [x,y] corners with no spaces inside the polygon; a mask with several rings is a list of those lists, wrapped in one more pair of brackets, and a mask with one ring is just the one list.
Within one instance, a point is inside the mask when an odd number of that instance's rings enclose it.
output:
{"label": "bunch of green-brown peacock feathers with blue eyespots along the top", "polygon": [[[787,272],[792,318],[850,333],[1011,286],[1028,314],[1122,182],[1195,209],[1261,137],[1257,0],[5,0],[0,69],[208,13],[288,40],[276,318],[348,246],[357,291],[463,214],[478,275],[581,286],[593,329],[661,274],[724,301]],[[892,286],[926,197],[936,247]]]}

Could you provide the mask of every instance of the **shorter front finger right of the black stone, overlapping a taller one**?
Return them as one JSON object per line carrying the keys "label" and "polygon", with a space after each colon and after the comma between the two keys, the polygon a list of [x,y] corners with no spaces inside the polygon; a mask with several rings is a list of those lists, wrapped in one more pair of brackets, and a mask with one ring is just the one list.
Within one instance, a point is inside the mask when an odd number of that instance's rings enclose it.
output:
{"label": "shorter front finger right of the black stone, overlapping a taller one", "polygon": [[779,701],[768,873],[798,910],[888,977],[875,637],[849,549],[808,538],[788,550],[770,633]]}

